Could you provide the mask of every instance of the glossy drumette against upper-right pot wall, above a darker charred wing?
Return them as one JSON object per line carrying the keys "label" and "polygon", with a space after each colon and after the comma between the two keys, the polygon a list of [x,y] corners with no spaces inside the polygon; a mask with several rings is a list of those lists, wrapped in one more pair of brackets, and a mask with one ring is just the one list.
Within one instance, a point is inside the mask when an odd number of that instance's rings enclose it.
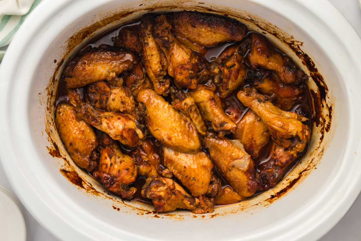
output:
{"label": "glossy drumette against upper-right pot wall, above a darker charred wing", "polygon": [[247,54],[253,69],[258,66],[273,70],[279,79],[286,84],[296,85],[308,80],[307,74],[298,70],[296,65],[287,56],[275,50],[274,46],[261,34],[251,34],[251,51]]}

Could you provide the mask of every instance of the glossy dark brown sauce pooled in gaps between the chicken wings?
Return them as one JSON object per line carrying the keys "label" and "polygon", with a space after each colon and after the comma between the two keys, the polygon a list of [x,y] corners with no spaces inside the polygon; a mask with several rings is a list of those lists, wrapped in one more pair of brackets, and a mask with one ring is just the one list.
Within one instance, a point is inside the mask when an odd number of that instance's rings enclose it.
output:
{"label": "glossy dark brown sauce pooled in gaps between the chicken wings", "polygon": [[[100,34],[99,36],[97,36],[96,38],[94,38],[93,40],[91,40],[82,50],[80,50],[77,54],[75,54],[74,59],[78,56],[81,56],[83,54],[83,52],[90,50],[91,48],[94,47],[99,47],[101,44],[109,44],[113,46],[114,40],[116,38],[116,36],[119,33],[119,30],[122,29],[123,27],[127,27],[127,26],[133,26],[135,28],[139,28],[140,27],[140,21],[138,20],[132,20],[130,22],[124,23],[122,25],[116,26],[108,31],[106,31],[103,34]],[[252,33],[253,31],[251,30],[247,30],[245,37],[247,38],[247,36]],[[208,52],[206,53],[206,55],[204,56],[205,59],[210,62],[213,60],[216,60],[216,58],[222,53],[223,50],[225,50],[225,48],[231,46],[234,43],[223,43],[219,46],[214,46],[214,47],[209,47],[208,48]],[[277,51],[279,51],[281,53],[281,55],[285,55],[282,51],[279,50],[279,48],[277,48],[277,46],[274,46],[275,49]],[[245,51],[244,56],[247,54],[247,52],[249,51],[249,49],[247,51]],[[248,63],[247,58],[245,58],[245,64],[250,66],[250,64]],[[66,91],[66,86],[65,86],[65,81],[64,78],[60,78],[59,84],[58,84],[58,88],[57,88],[57,93],[56,93],[56,101],[55,101],[55,106],[62,101],[69,101],[69,96],[67,96],[67,91]],[[205,85],[209,85],[210,83],[205,82]],[[248,85],[249,83],[247,83],[247,81],[245,82],[245,86]],[[174,86],[174,85],[173,85]],[[223,104],[224,104],[224,110],[226,112],[227,115],[231,116],[233,120],[235,120],[235,122],[239,122],[242,117],[244,116],[244,114],[248,111],[249,108],[244,107],[242,105],[242,103],[238,100],[236,94],[238,93],[239,90],[243,89],[244,86],[240,86],[237,90],[233,91],[231,94],[229,94],[228,96],[226,96],[223,99]],[[303,86],[303,90],[304,90],[304,96],[303,98],[300,98],[299,100],[297,100],[295,102],[295,105],[293,106],[293,108],[290,111],[296,111],[298,114],[303,115],[305,117],[308,118],[307,121],[303,122],[303,124],[308,125],[310,127],[313,126],[313,109],[312,109],[312,97],[311,97],[311,93],[309,90],[309,87],[307,85]],[[77,89],[78,93],[80,94],[81,98],[84,98],[84,89],[83,88],[78,88]],[[187,92],[187,90],[183,90],[184,92]],[[217,93],[219,95],[219,92]],[[165,98],[166,101],[170,102],[171,98],[170,95],[169,96],[163,96]],[[84,101],[84,99],[83,99]],[[209,125],[210,126],[210,125]],[[212,131],[212,127],[209,128],[210,131]],[[310,128],[310,130],[312,131],[312,128]],[[226,137],[228,138],[232,138],[232,135],[226,135]],[[150,138],[153,145],[155,146],[155,152],[157,155],[161,156],[160,154],[160,148],[161,148],[161,144],[160,142],[158,142],[152,135],[148,135],[147,138]],[[258,158],[254,158],[253,160],[255,161],[256,164],[256,170],[259,171],[258,169],[258,165],[261,163],[266,162],[267,160],[270,159],[270,154],[271,154],[271,145],[270,143],[272,142],[272,139],[270,139],[270,141],[264,146],[262,147]],[[118,142],[119,147],[121,148],[121,150],[126,153],[126,154],[130,154],[130,152],[132,151],[130,147],[127,147],[125,145],[122,145],[120,142]],[[306,145],[304,151],[301,153],[300,157],[297,158],[296,160],[294,160],[290,165],[288,165],[288,167],[284,170],[284,176],[285,177],[292,169],[293,167],[295,167],[295,165],[299,162],[299,160],[302,158],[302,156],[305,154],[305,152],[307,151],[309,146],[309,143]],[[203,149],[204,151],[208,153],[208,149]],[[164,166],[162,166],[164,167]],[[96,170],[97,168],[95,168]],[[92,172],[88,172],[89,175],[92,175]],[[230,186],[229,183],[227,182],[227,180],[217,171],[217,168],[214,168],[214,173],[216,174],[216,176],[218,176],[221,179],[222,182],[222,188],[226,187],[226,186]],[[188,191],[188,189],[183,186],[183,184],[175,177],[173,177],[173,180],[176,181],[179,185],[181,185],[184,190],[186,190],[188,193],[190,193]],[[282,179],[281,179],[282,180]],[[96,180],[97,182],[99,182],[99,180]],[[100,182],[99,182],[100,183]],[[100,183],[101,184],[101,183]],[[139,202],[143,202],[143,203],[152,203],[151,199],[148,198],[143,198],[141,195],[141,190],[143,185],[145,184],[145,177],[144,176],[138,176],[136,181],[134,182],[134,184],[132,184],[132,186],[134,186],[137,189],[136,194],[134,195],[134,198],[132,200],[135,201],[139,201]],[[261,191],[257,191],[256,194],[260,193]],[[255,194],[255,195],[256,195]],[[252,196],[253,197],[253,196]],[[251,198],[251,197],[249,197]],[[225,205],[220,205],[220,206],[225,206]],[[217,207],[217,205],[216,205]]]}

